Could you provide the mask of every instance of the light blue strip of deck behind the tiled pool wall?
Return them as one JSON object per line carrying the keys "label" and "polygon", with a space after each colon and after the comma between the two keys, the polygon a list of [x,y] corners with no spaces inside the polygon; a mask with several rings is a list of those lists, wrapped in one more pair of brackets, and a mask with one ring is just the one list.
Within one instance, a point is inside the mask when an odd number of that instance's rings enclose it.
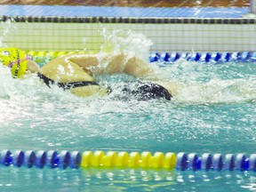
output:
{"label": "light blue strip of deck behind the tiled pool wall", "polygon": [[249,7],[117,7],[0,5],[0,17],[243,18]]}

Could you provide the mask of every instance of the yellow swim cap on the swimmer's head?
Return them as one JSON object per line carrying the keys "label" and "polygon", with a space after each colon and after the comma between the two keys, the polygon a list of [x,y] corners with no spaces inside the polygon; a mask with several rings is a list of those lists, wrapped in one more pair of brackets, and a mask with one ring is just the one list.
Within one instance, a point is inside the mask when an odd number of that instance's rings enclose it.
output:
{"label": "yellow swim cap on the swimmer's head", "polygon": [[12,76],[14,77],[20,78],[26,73],[26,54],[17,48],[0,48],[0,62],[4,66],[12,68]]}

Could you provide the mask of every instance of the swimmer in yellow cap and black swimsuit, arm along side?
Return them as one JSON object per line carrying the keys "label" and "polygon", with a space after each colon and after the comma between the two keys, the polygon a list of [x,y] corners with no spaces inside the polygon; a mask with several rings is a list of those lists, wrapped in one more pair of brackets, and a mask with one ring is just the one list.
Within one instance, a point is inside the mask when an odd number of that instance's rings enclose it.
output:
{"label": "swimmer in yellow cap and black swimsuit, arm along side", "polygon": [[39,68],[24,52],[16,48],[0,48],[0,62],[8,66],[13,77],[23,77],[26,72],[37,73],[49,87],[57,84],[80,97],[104,96],[111,89],[95,82],[95,75],[125,73],[150,82],[127,83],[122,90],[127,97],[137,100],[171,100],[176,84],[158,81],[151,68],[143,60],[120,54],[68,54],[60,56]]}

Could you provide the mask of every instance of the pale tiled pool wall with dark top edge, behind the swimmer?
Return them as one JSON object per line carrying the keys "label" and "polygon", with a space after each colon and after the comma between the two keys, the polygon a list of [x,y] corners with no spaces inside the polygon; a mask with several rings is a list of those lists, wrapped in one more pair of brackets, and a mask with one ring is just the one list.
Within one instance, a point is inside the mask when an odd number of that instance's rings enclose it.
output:
{"label": "pale tiled pool wall with dark top edge, behind the swimmer", "polygon": [[[172,10],[171,10],[172,11]],[[236,10],[235,10],[236,11]],[[233,11],[234,12],[234,11]],[[36,12],[37,14],[38,12]],[[21,13],[23,14],[23,13]],[[40,12],[39,12],[40,14]],[[45,14],[45,13],[44,13]],[[108,13],[107,13],[108,14]],[[111,14],[111,13],[109,13]],[[2,21],[12,18],[10,32],[3,43],[33,51],[99,51],[103,44],[102,30],[132,30],[152,40],[152,52],[243,52],[256,50],[256,19],[180,18],[152,14],[120,16],[2,16]],[[173,15],[172,15],[173,16]],[[207,16],[207,15],[206,15]],[[218,16],[218,15],[216,15]],[[224,15],[225,16],[225,15]],[[4,23],[4,22],[3,22]],[[6,23],[0,27],[4,30]]]}

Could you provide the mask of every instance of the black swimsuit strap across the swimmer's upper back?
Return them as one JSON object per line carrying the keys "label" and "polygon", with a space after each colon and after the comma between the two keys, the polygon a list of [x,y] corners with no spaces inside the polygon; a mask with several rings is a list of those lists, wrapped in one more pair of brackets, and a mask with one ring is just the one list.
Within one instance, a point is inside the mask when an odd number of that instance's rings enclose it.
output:
{"label": "black swimsuit strap across the swimmer's upper back", "polygon": [[[50,87],[50,84],[54,84],[55,82],[51,79],[48,78],[47,76],[44,76],[41,73],[37,73],[37,76],[44,81],[44,84]],[[81,81],[81,82],[67,82],[67,83],[57,83],[57,85],[64,90],[68,90],[71,88],[76,88],[76,87],[82,87],[82,86],[88,86],[88,85],[99,85],[96,82],[91,82],[91,81]],[[51,88],[51,87],[50,87]]]}

